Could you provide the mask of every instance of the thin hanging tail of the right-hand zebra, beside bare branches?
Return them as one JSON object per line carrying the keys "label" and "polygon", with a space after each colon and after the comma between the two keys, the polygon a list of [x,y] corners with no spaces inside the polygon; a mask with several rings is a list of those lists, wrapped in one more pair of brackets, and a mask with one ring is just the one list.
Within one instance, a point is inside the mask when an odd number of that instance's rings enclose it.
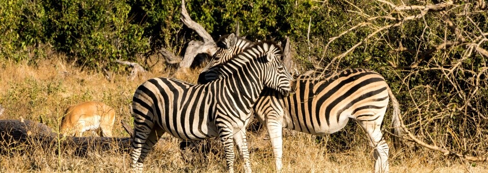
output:
{"label": "thin hanging tail of the right-hand zebra, beside bare branches", "polygon": [[389,86],[387,87],[387,89],[388,89],[388,95],[390,96],[391,99],[391,105],[393,106],[393,115],[391,116],[391,126],[392,126],[391,133],[394,134],[393,145],[395,148],[399,148],[401,146],[400,139],[403,133],[403,129],[401,127],[401,122],[400,122],[400,116],[401,116],[400,103],[398,103],[398,100],[396,100],[396,97],[395,95],[393,95],[393,92],[391,92]]}

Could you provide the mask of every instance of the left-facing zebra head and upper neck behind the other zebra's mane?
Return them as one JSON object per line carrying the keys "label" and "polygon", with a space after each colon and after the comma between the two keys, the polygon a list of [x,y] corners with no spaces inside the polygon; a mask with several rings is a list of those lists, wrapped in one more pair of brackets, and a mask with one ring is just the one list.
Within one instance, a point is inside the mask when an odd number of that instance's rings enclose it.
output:
{"label": "left-facing zebra head and upper neck behind the other zebra's mane", "polygon": [[205,66],[198,77],[199,84],[206,84],[218,78],[216,74],[207,73],[211,67],[225,63],[235,55],[241,53],[245,48],[253,45],[253,42],[242,37],[235,36],[234,33],[224,35],[217,41],[217,52],[212,56],[210,62]]}

